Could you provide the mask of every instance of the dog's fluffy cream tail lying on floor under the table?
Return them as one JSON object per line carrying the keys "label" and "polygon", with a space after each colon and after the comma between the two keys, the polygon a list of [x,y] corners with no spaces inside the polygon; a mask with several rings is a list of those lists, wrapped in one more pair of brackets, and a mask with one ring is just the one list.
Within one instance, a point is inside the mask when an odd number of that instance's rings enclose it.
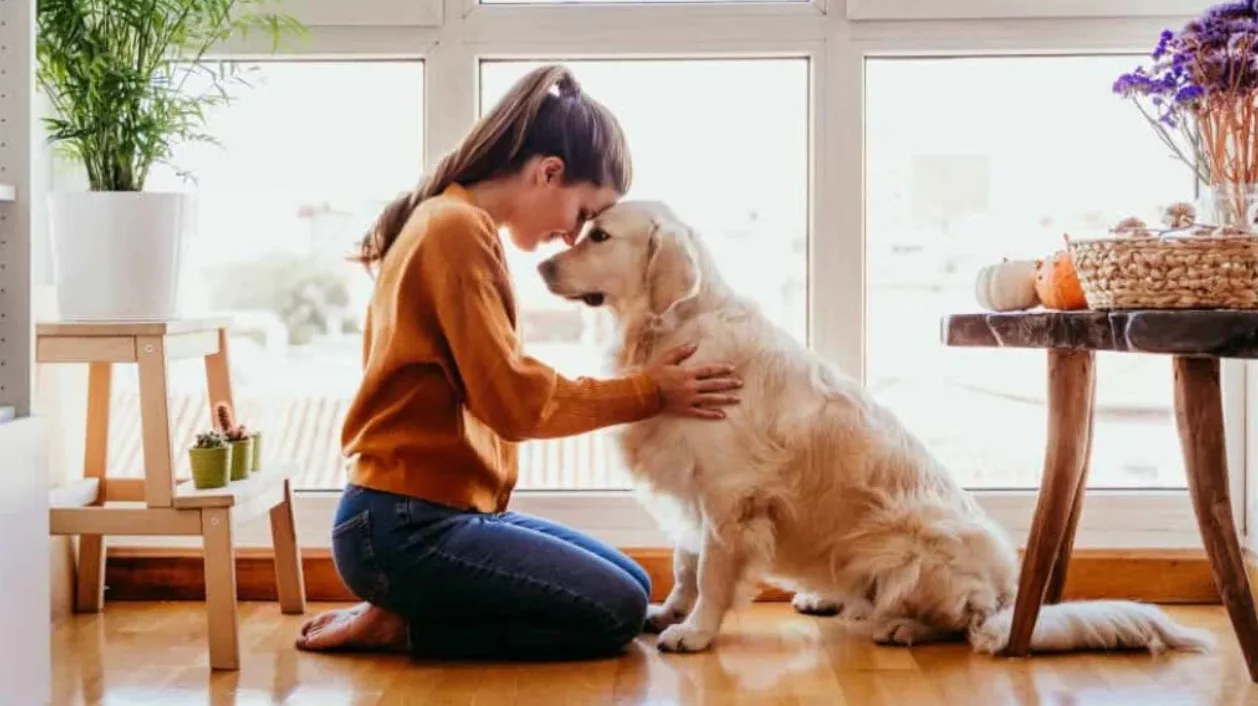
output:
{"label": "dog's fluffy cream tail lying on floor under the table", "polygon": [[[970,628],[970,644],[995,654],[1009,643],[1013,605]],[[1180,625],[1157,607],[1130,600],[1079,600],[1044,605],[1030,638],[1032,652],[1183,649],[1209,652],[1213,636]]]}

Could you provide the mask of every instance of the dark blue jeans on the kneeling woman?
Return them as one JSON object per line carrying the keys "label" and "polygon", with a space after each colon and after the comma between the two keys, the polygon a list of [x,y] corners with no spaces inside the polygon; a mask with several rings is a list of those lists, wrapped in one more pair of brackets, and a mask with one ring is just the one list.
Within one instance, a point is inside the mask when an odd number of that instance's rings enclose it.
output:
{"label": "dark blue jeans on the kneeling woman", "polygon": [[341,580],[403,615],[416,657],[582,659],[642,632],[650,579],[574,530],[348,486],[332,529]]}

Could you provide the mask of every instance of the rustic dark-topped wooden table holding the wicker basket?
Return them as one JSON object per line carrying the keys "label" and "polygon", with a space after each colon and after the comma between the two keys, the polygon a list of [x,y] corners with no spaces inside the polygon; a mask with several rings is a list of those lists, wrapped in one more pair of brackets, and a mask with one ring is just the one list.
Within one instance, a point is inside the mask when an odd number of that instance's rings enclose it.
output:
{"label": "rustic dark-topped wooden table holding the wicker basket", "polygon": [[1006,653],[1025,656],[1040,604],[1062,599],[1092,451],[1096,351],[1174,356],[1175,422],[1201,540],[1228,617],[1258,682],[1258,614],[1237,537],[1219,391],[1219,359],[1258,359],[1258,312],[1082,311],[962,313],[949,346],[1048,351],[1044,476],[1023,559]]}

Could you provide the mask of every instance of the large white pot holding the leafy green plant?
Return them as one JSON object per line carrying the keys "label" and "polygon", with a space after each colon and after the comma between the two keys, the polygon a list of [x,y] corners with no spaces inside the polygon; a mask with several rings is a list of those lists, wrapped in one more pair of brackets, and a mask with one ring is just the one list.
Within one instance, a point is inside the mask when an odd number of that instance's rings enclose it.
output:
{"label": "large white pot holding the leafy green plant", "polygon": [[60,318],[179,318],[192,199],[148,191],[52,194],[48,221]]}

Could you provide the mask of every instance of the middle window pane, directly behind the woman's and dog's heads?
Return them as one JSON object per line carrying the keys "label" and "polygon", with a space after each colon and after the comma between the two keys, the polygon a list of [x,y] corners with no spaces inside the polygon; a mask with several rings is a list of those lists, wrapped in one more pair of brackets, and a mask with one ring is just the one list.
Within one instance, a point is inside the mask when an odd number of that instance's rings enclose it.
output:
{"label": "middle window pane, directly behind the woman's and dog's heads", "polygon": [[[482,63],[482,109],[536,65]],[[667,201],[707,240],[730,284],[805,340],[808,60],[567,65],[626,133],[634,161],[628,196]],[[555,297],[536,274],[554,248],[508,252],[530,354],[569,375],[606,374],[613,328],[605,312]],[[521,488],[628,487],[605,432],[530,442],[520,456]]]}

